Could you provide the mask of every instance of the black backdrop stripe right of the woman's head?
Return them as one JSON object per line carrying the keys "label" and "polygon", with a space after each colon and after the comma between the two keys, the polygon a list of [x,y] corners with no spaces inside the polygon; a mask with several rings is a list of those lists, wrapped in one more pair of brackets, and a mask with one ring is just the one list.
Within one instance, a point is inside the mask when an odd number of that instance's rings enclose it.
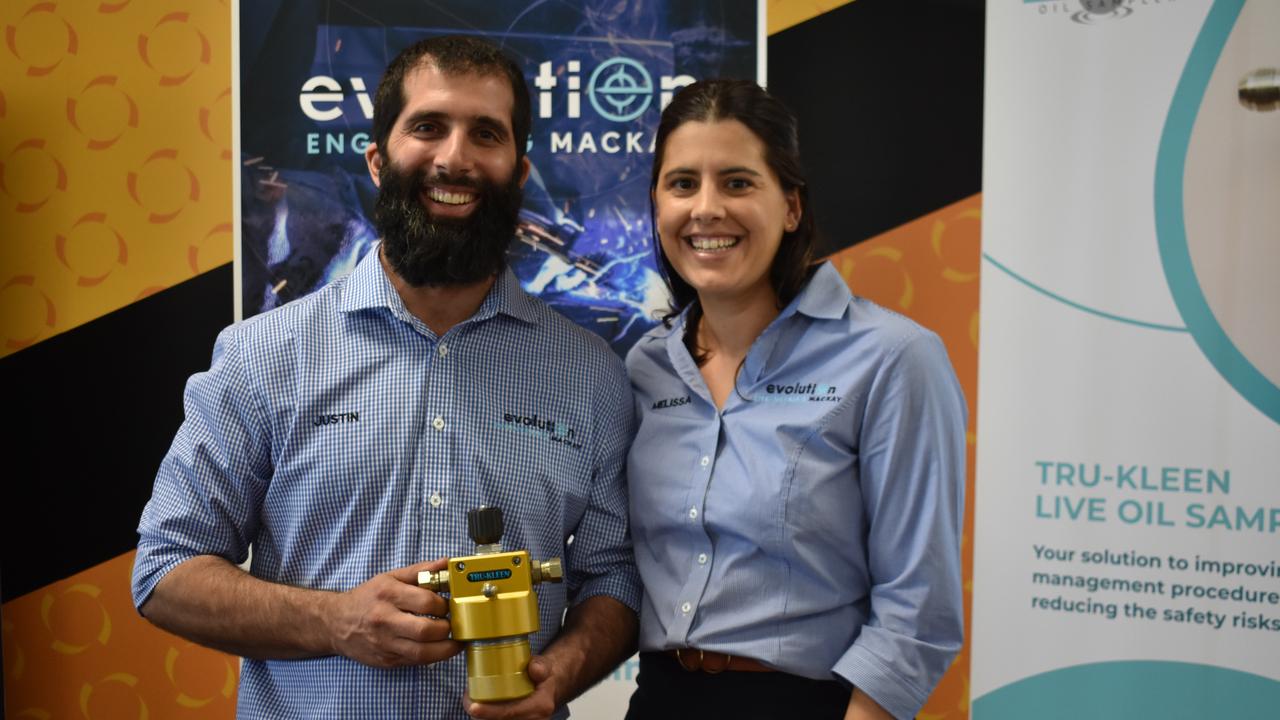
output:
{"label": "black backdrop stripe right of the woman's head", "polygon": [[855,0],[769,37],[832,254],[982,190],[982,0]]}

